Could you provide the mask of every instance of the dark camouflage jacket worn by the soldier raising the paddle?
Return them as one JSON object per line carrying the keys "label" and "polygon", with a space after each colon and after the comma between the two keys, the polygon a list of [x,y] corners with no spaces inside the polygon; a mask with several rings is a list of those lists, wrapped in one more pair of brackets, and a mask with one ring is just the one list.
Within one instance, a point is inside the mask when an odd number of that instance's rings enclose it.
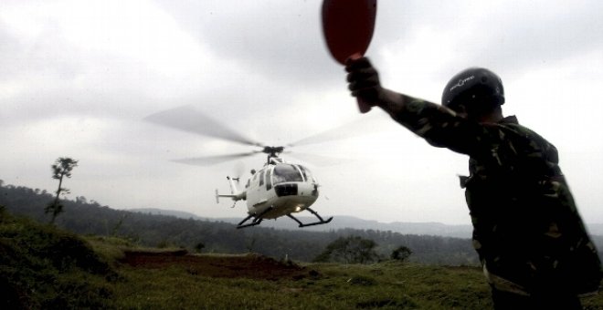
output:
{"label": "dark camouflage jacket worn by the soldier raising the paddle", "polygon": [[460,185],[473,245],[492,284],[526,294],[598,290],[603,274],[598,252],[555,146],[515,117],[480,124],[420,100],[408,102],[393,118],[433,146],[470,156],[470,176],[460,177]]}

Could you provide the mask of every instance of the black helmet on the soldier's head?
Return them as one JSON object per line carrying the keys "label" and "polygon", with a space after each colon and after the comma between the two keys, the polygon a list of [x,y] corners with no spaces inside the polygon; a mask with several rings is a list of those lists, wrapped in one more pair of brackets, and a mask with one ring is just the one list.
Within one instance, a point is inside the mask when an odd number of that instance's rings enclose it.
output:
{"label": "black helmet on the soldier's head", "polygon": [[463,104],[468,109],[487,110],[503,103],[503,81],[494,72],[483,67],[470,67],[460,71],[450,78],[442,94],[442,105],[450,109]]}

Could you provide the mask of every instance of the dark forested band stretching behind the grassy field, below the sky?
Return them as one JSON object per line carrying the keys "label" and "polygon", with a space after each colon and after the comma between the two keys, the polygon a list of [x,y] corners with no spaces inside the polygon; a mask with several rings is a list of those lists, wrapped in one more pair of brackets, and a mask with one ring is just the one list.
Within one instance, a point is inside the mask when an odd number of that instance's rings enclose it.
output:
{"label": "dark forested band stretching behind the grassy field, below the sky", "polygon": [[[51,216],[44,209],[52,200],[48,191],[0,183],[0,205],[18,216],[50,222]],[[406,246],[412,251],[410,262],[479,264],[470,239],[353,228],[311,232],[259,226],[238,230],[227,222],[114,210],[84,197],[61,203],[63,211],[54,221],[59,228],[84,235],[118,236],[143,246],[179,247],[197,253],[260,253],[276,259],[312,262],[329,243],[353,235],[375,242],[376,253],[384,258]],[[602,239],[595,237],[599,249],[603,247]]]}

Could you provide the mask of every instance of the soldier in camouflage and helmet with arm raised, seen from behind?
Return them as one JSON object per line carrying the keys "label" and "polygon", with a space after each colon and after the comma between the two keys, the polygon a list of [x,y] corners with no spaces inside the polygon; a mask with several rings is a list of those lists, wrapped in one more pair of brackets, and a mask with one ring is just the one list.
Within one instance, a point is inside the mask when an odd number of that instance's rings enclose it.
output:
{"label": "soldier in camouflage and helmet with arm raised, seen from behind", "polygon": [[348,60],[352,96],[384,109],[427,140],[469,155],[460,177],[473,246],[495,309],[581,309],[603,269],[558,166],[555,146],[514,116],[503,117],[503,83],[472,67],[450,79],[442,105],[382,88],[365,57]]}

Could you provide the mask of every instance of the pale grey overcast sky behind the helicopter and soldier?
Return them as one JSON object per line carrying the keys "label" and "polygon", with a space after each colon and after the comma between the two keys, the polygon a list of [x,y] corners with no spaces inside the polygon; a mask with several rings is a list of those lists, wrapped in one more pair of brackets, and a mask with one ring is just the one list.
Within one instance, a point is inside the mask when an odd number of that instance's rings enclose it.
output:
{"label": "pale grey overcast sky behind the helicopter and soldier", "polygon": [[[70,157],[79,167],[64,183],[69,199],[242,218],[243,202],[217,204],[214,191],[226,193],[228,174],[258,169],[264,156],[176,163],[255,149],[143,120],[192,105],[275,146],[354,122],[349,139],[283,154],[307,160],[322,185],[313,209],[323,216],[470,223],[458,185],[467,157],[429,147],[382,111],[358,113],[324,46],[320,7],[3,0],[0,180],[56,191],[50,165]],[[555,144],[583,218],[603,222],[601,12],[601,1],[383,0],[367,56],[387,88],[434,102],[465,67],[497,72],[504,113]]]}

